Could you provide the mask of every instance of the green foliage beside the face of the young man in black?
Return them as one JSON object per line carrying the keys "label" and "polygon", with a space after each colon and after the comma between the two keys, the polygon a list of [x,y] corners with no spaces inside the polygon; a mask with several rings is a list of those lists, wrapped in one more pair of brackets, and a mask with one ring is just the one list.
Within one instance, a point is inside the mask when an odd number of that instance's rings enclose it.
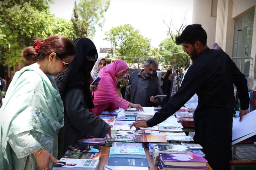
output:
{"label": "green foliage beside the face of the young man in black", "polygon": [[162,66],[165,69],[176,65],[178,68],[189,67],[189,56],[183,52],[183,47],[181,45],[175,44],[172,38],[166,38],[164,41],[160,42],[159,53],[162,55],[160,57],[160,62],[162,62]]}

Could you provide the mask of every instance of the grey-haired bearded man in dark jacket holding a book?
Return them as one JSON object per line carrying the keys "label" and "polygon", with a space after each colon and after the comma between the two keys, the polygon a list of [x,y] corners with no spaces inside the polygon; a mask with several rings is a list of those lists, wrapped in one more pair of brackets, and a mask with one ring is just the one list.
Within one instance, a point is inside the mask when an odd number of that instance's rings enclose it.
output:
{"label": "grey-haired bearded man in dark jacket holding a book", "polygon": [[158,63],[154,59],[148,59],[143,70],[132,72],[126,88],[125,99],[142,107],[158,106],[160,98],[156,95],[163,95],[158,79],[153,75],[156,72]]}

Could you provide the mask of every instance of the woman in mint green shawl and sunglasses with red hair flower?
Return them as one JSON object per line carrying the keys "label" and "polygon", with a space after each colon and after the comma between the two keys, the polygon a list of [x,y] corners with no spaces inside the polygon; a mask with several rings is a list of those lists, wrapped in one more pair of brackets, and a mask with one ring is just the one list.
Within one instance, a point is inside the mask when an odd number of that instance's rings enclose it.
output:
{"label": "woman in mint green shawl and sunglasses with red hair flower", "polygon": [[34,64],[15,73],[0,109],[1,170],[50,170],[59,162],[64,107],[49,74],[65,71],[75,53],[72,42],[60,35],[37,38],[23,49],[23,57]]}

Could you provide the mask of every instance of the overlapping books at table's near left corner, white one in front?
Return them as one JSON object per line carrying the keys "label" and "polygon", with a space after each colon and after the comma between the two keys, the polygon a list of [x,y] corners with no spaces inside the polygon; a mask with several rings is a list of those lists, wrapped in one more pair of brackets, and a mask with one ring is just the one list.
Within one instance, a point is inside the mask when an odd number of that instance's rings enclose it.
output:
{"label": "overlapping books at table's near left corner, white one in front", "polygon": [[65,152],[53,170],[90,169],[97,170],[101,156],[99,145],[73,145]]}

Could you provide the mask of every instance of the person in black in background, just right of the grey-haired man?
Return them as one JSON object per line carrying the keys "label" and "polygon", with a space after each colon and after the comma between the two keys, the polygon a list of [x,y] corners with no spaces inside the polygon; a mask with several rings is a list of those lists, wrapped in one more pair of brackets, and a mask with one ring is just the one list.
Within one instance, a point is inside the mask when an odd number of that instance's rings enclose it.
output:
{"label": "person in black in background, just right of the grey-haired man", "polygon": [[172,81],[172,68],[171,67],[161,77],[161,80],[163,81],[162,89],[164,91],[164,94],[167,95],[162,101],[162,105],[165,105],[169,101],[169,98],[170,98],[171,81]]}

